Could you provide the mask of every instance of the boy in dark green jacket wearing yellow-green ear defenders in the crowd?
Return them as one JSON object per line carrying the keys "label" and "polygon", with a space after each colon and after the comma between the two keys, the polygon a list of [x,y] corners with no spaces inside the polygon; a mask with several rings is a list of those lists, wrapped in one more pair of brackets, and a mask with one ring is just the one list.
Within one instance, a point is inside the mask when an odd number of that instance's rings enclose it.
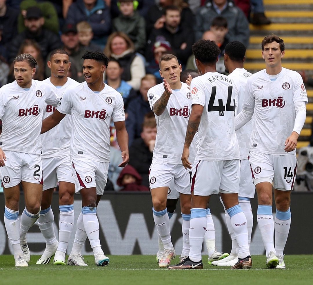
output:
{"label": "boy in dark green jacket wearing yellow-green ear defenders in the crowd", "polygon": [[136,11],[138,1],[120,0],[117,3],[121,13],[113,20],[112,31],[124,32],[134,43],[135,51],[143,53],[146,45],[146,23]]}

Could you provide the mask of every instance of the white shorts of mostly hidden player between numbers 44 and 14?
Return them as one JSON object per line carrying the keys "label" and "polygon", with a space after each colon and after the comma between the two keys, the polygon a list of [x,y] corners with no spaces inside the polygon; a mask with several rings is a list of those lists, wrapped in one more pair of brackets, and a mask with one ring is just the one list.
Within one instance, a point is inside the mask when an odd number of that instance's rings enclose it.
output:
{"label": "white shorts of mostly hidden player between numbers 44 and 14", "polygon": [[248,159],[240,160],[240,180],[238,197],[254,198],[255,186]]}

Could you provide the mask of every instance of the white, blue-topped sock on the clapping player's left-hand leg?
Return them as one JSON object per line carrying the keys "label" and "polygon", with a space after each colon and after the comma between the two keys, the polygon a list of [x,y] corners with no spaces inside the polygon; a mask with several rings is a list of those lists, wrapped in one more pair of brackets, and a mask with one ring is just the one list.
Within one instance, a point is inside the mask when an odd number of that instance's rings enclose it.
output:
{"label": "white, blue-topped sock on the clapping player's left-hand leg", "polygon": [[173,250],[172,238],[170,233],[170,219],[167,214],[167,209],[157,212],[152,208],[154,223],[161,237],[164,249]]}

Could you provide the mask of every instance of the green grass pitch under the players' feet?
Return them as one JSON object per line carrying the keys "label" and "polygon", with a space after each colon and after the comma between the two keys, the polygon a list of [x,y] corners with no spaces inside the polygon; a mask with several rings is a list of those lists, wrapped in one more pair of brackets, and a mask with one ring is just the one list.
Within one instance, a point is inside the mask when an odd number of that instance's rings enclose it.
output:
{"label": "green grass pitch under the players' feet", "polygon": [[[155,256],[131,255],[109,256],[106,267],[95,266],[93,256],[85,256],[88,267],[35,265],[39,256],[31,256],[29,267],[15,268],[12,255],[0,256],[1,285],[96,285],[96,284],[312,284],[313,256],[287,255],[286,268],[266,269],[264,255],[252,256],[253,268],[250,270],[229,270],[225,267],[208,265],[203,256],[203,270],[168,270],[158,268]],[[178,263],[178,258],[171,264]]]}

